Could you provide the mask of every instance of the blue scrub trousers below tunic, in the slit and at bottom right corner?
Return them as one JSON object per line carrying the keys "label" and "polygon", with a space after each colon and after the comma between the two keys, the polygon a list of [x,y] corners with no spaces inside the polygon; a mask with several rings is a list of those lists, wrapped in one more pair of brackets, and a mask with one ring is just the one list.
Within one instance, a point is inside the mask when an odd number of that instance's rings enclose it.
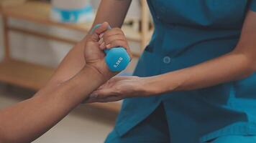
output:
{"label": "blue scrub trousers below tunic, in the slit and at bottom right corner", "polygon": [[[152,112],[147,119],[120,137],[113,130],[105,143],[170,143],[168,122],[163,104]],[[256,143],[256,136],[224,136],[209,143]]]}

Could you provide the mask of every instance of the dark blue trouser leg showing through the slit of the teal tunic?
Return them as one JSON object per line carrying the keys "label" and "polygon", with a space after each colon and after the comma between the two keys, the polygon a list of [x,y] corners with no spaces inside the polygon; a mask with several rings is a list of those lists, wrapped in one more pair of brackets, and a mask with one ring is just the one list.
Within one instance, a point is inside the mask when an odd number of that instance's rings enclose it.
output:
{"label": "dark blue trouser leg showing through the slit of the teal tunic", "polygon": [[113,130],[105,143],[169,143],[168,122],[161,104],[147,119],[131,129],[122,137]]}

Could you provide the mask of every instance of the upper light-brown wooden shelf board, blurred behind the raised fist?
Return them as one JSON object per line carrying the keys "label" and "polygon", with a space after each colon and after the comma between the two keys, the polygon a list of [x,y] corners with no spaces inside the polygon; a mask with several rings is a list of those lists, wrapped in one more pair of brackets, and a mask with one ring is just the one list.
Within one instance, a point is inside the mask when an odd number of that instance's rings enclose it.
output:
{"label": "upper light-brown wooden shelf board, blurred behind the raised fist", "polygon": [[[22,4],[15,4],[10,6],[4,6],[3,13],[6,16],[32,21],[38,24],[45,24],[48,26],[59,26],[65,29],[73,29],[82,32],[88,32],[91,29],[92,23],[83,24],[63,24],[50,19],[50,4],[40,1],[27,1]],[[135,31],[129,26],[122,28],[129,41],[141,41],[141,33]],[[148,36],[148,39],[150,35]]]}

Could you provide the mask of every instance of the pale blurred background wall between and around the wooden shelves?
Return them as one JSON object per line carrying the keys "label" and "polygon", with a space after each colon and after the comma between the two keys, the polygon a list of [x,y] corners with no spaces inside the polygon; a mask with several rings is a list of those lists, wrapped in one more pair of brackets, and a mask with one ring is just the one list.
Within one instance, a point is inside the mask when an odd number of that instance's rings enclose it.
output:
{"label": "pale blurred background wall between and around the wooden shelves", "polygon": [[[94,10],[98,8],[100,0],[93,0],[91,1],[91,4],[93,5]],[[139,1],[133,1],[132,6],[129,9],[129,13],[127,16],[137,17],[138,19],[140,15],[140,5]],[[17,19],[11,19],[10,24],[14,26],[20,26],[24,27],[26,29],[32,29],[36,31],[42,31],[47,32],[49,34],[54,35],[63,35],[65,37],[68,37],[70,39],[82,39],[83,36],[86,34],[83,34],[78,31],[70,31],[67,29],[60,29],[55,26],[44,26],[40,24],[33,24],[28,21],[22,21]],[[0,59],[3,58],[3,29],[2,29],[2,19],[0,19]],[[10,34],[11,39],[11,49],[12,49],[12,56],[17,59],[22,59],[24,61],[32,61],[37,64],[43,64],[47,66],[58,66],[61,59],[65,56],[65,54],[68,53],[70,48],[73,47],[73,45],[65,44],[57,41],[50,41],[45,39],[40,39],[34,36],[27,36],[23,34],[17,34],[17,33],[11,33]],[[12,40],[15,39],[15,40]],[[134,51],[140,51],[140,44],[130,42],[130,47]],[[132,72],[134,69],[135,64],[137,63],[137,59],[135,58],[132,62],[132,65],[129,68],[129,71]]]}

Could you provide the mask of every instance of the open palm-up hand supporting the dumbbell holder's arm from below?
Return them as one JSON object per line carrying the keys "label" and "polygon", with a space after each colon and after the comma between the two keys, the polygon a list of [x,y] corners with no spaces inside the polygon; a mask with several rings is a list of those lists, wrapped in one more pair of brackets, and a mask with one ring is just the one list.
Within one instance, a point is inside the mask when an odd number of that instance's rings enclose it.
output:
{"label": "open palm-up hand supporting the dumbbell holder's arm from below", "polygon": [[157,88],[150,86],[150,78],[113,77],[94,91],[87,102],[116,102],[129,97],[147,97],[152,94],[157,94]]}

